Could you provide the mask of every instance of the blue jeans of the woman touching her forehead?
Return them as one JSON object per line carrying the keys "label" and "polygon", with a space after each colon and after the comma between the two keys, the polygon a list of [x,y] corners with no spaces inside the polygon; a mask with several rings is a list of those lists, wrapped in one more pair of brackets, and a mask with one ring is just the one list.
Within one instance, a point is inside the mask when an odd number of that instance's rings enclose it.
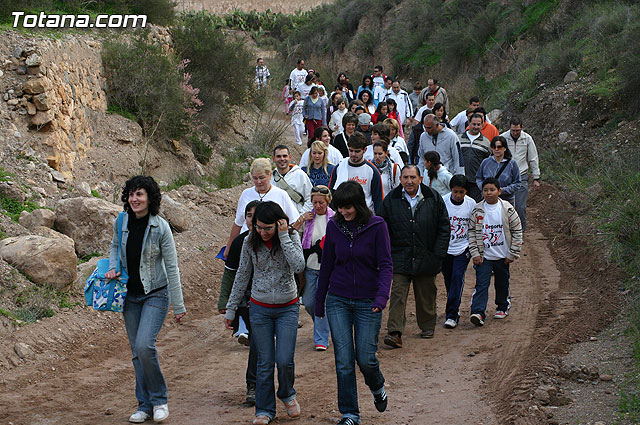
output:
{"label": "blue jeans of the woman touching her forehead", "polygon": [[265,415],[273,419],[276,416],[275,365],[278,366],[278,398],[285,403],[296,398],[293,355],[298,333],[298,304],[286,307],[251,304],[249,314],[251,338],[258,352],[256,416]]}

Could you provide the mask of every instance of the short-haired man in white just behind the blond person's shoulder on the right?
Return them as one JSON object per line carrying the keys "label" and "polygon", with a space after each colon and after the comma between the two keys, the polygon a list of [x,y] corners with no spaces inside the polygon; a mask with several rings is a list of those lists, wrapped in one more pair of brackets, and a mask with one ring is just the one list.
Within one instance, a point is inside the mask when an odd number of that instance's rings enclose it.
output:
{"label": "short-haired man in white just behind the blond person's shoulder on the right", "polygon": [[278,145],[273,149],[272,161],[276,169],[271,174],[271,183],[287,192],[300,214],[313,209],[311,203],[311,180],[300,167],[290,164],[289,148]]}

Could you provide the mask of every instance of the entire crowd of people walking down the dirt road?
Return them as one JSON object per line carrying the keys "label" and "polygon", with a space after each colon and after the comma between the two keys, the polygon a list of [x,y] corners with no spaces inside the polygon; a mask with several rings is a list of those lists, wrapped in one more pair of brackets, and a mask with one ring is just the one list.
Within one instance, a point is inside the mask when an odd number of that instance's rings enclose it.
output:
{"label": "entire crowd of people walking down the dirt road", "polygon": [[[256,85],[269,87],[270,78],[258,59]],[[421,338],[436,332],[439,273],[447,293],[442,326],[460,323],[470,262],[476,281],[468,320],[486,324],[492,276],[493,319],[506,319],[529,179],[540,185],[522,120],[511,117],[499,133],[477,96],[450,119],[437,79],[409,93],[382,66],[357,89],[344,72],[331,88],[297,62],[282,98],[296,143],[307,149],[299,164],[286,144],[252,162],[253,186],[240,195],[223,250],[217,307],[224,326],[249,346],[246,403],[255,405],[254,425],[274,420],[276,398],[289,417],[301,415],[294,364],[301,305],[313,322],[314,349],[333,345],[340,425],[360,423],[356,364],[375,408],[386,410],[376,357],[382,312],[388,304],[383,344],[401,349],[411,286]],[[138,176],[125,184],[122,201],[128,219],[122,229],[114,224],[109,276],[117,275],[118,259],[130,276],[124,316],[139,407],[129,421],[159,422],[169,410],[155,339],[169,302],[177,321],[186,309],[173,238],[156,216],[157,184]]]}

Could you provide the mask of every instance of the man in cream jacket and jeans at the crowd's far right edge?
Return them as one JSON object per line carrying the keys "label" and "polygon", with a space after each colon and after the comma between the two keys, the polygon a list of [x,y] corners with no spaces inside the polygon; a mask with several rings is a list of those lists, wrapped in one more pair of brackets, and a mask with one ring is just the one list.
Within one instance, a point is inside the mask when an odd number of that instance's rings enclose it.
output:
{"label": "man in cream jacket and jeans at the crowd's far right edge", "polygon": [[529,169],[533,175],[533,188],[540,187],[540,168],[538,166],[538,150],[533,138],[522,131],[522,120],[514,117],[511,119],[510,130],[501,134],[507,140],[507,146],[513,159],[520,169],[520,181],[522,184],[515,193],[516,212],[522,222],[522,231],[527,228],[527,197],[529,196]]}

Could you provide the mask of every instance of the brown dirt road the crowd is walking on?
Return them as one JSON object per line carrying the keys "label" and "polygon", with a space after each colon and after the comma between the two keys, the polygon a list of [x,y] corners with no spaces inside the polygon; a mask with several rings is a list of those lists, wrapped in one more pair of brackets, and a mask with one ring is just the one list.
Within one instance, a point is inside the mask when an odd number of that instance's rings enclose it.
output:
{"label": "brown dirt road the crowd is walking on", "polygon": [[[471,268],[457,329],[438,327],[434,339],[420,339],[410,305],[405,347],[391,350],[381,344],[379,350],[390,397],[387,412],[375,410],[360,382],[363,425],[500,423],[496,407],[504,401],[496,395],[501,388],[517,388],[513,378],[527,363],[540,306],[559,283],[545,238],[532,227],[523,256],[512,268],[513,309],[506,320],[489,319],[483,328],[466,320],[474,284]],[[183,268],[192,268],[213,250],[188,260]],[[201,269],[191,278],[209,272],[213,276],[205,286],[217,288],[221,264]],[[188,279],[188,320],[183,325],[168,321],[158,343],[170,388],[167,423],[250,423],[253,409],[242,405],[248,349],[224,330],[215,312],[217,290],[207,293]],[[441,278],[438,288],[442,323]],[[303,412],[298,423],[332,424],[339,419],[333,353],[313,350],[311,320],[303,313],[296,348],[296,389]],[[384,329],[381,338],[383,333]],[[27,340],[39,354],[3,373],[0,423],[117,424],[126,422],[135,410],[130,352],[118,315],[81,309],[20,329],[12,339]],[[275,423],[288,422],[279,410]]]}

